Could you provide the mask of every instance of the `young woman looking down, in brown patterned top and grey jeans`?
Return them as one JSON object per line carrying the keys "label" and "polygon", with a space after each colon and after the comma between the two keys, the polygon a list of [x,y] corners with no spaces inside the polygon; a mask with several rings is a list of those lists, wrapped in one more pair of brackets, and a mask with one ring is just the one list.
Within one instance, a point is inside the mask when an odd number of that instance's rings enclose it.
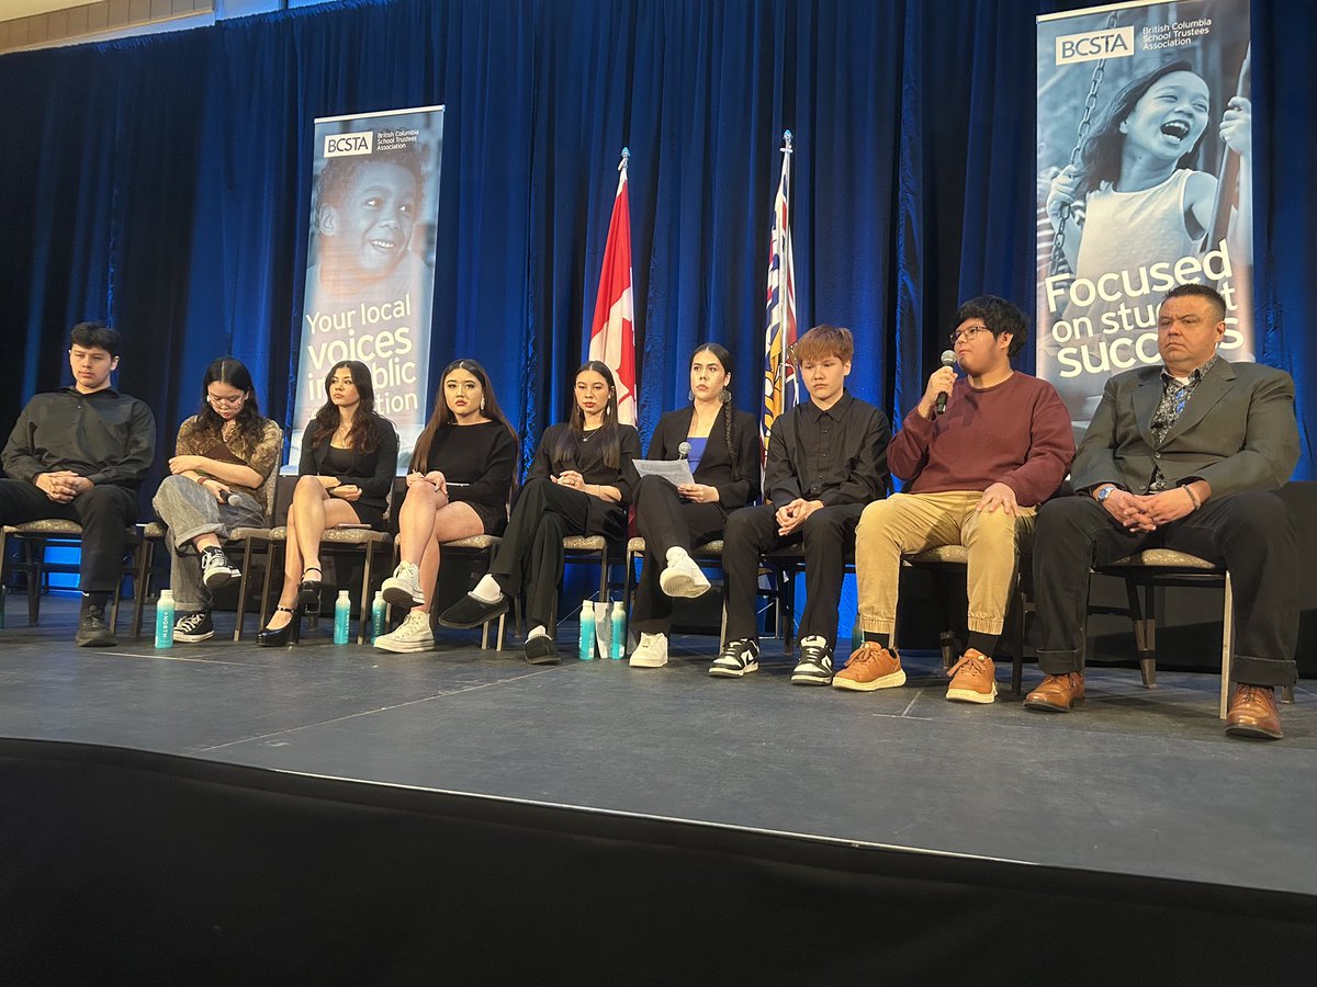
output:
{"label": "young woman looking down, in brown patterned top and grey jeans", "polygon": [[215,637],[211,591],[242,575],[224,554],[234,528],[266,524],[262,487],[279,462],[283,434],[261,415],[252,374],[221,357],[202,378],[202,408],[179,425],[170,476],[151,500],[165,522],[174,640]]}

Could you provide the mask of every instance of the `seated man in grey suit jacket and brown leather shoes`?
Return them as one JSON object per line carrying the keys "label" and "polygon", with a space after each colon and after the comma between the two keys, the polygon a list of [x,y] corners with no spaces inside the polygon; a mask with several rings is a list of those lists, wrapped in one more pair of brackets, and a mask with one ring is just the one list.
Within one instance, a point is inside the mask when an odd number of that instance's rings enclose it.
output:
{"label": "seated man in grey suit jacket and brown leather shoes", "polygon": [[1046,504],[1034,537],[1043,683],[1029,709],[1084,699],[1090,566],[1146,547],[1225,565],[1235,588],[1235,691],[1226,733],[1279,738],[1274,690],[1297,676],[1299,559],[1275,495],[1299,461],[1295,382],[1216,347],[1225,301],[1202,284],[1171,291],[1158,318],[1164,366],[1112,378],[1071,470],[1079,496]]}

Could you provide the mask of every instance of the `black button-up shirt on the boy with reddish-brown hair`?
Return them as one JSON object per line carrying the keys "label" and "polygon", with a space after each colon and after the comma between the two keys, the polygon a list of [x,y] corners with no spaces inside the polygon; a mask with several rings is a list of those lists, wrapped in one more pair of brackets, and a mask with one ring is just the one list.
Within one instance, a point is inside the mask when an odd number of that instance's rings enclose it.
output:
{"label": "black button-up shirt on the boy with reddish-brown hair", "polygon": [[888,416],[849,392],[826,411],[797,405],[773,422],[764,494],[777,507],[797,497],[824,507],[877,500],[890,479],[890,438]]}

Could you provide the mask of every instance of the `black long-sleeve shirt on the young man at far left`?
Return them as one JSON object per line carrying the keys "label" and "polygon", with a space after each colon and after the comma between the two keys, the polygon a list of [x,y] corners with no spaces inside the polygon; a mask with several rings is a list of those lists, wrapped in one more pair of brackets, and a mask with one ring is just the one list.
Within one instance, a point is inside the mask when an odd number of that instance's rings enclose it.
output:
{"label": "black long-sleeve shirt on the young man at far left", "polygon": [[8,476],[68,470],[92,483],[137,490],[155,458],[155,416],[112,387],[36,395],[18,415],[0,462]]}

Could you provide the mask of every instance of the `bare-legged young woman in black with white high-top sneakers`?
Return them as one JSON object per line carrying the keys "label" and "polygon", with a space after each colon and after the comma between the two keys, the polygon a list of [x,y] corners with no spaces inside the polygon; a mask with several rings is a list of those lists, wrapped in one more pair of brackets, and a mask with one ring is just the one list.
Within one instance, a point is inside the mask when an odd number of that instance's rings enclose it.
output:
{"label": "bare-legged young woman in black with white high-top sneakers", "polygon": [[396,630],[375,638],[375,647],[407,653],[435,646],[429,608],[443,545],[503,533],[516,449],[516,429],[499,408],[485,367],[474,359],[444,367],[398,516],[402,562],[383,586],[385,600],[411,611]]}

